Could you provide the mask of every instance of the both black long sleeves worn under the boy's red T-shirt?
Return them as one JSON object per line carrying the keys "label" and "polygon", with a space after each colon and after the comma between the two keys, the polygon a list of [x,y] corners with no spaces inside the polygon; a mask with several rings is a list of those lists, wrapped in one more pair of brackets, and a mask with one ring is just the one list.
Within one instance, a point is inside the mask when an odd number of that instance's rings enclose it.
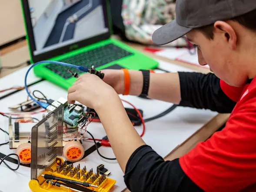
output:
{"label": "both black long sleeves worn under the boy's red T-shirt", "polygon": [[[234,109],[236,101],[223,92],[220,80],[214,74],[179,72],[179,77],[179,106],[210,109],[220,113],[229,113]],[[184,173],[179,159],[164,161],[148,145],[139,147],[131,155],[124,181],[132,192],[203,191]]]}

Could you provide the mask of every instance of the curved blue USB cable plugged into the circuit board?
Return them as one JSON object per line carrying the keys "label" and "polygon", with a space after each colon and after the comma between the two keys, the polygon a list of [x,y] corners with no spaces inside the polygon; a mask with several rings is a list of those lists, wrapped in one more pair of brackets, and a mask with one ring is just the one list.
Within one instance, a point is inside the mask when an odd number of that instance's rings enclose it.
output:
{"label": "curved blue USB cable plugged into the circuit board", "polygon": [[68,63],[63,63],[63,62],[59,62],[59,61],[39,61],[35,64],[33,64],[28,70],[27,70],[27,73],[25,75],[25,90],[27,91],[27,94],[28,96],[34,101],[34,102],[37,102],[41,107],[43,107],[44,109],[46,109],[49,104],[47,102],[40,102],[40,101],[37,101],[35,98],[33,98],[28,89],[27,89],[27,75],[28,73],[30,72],[30,70],[35,67],[36,65],[38,64],[45,64],[45,63],[51,63],[51,64],[60,64],[60,65],[65,65],[65,66],[68,66],[68,67],[74,67],[74,68],[77,68],[83,72],[88,72],[88,68],[87,67],[83,67],[83,66],[77,66],[77,65],[73,65],[73,64],[68,64]]}

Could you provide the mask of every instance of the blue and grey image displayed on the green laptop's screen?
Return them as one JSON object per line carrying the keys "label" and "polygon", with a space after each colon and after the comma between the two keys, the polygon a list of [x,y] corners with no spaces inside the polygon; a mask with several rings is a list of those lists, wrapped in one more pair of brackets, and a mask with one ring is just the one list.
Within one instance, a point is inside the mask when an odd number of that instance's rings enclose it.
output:
{"label": "blue and grey image displayed on the green laptop's screen", "polygon": [[34,55],[108,32],[102,0],[29,0]]}

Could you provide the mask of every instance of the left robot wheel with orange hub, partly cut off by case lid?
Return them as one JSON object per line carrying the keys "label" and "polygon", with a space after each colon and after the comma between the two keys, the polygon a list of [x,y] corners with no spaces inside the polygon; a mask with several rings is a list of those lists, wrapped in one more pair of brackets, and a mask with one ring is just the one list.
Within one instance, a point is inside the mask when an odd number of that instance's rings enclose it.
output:
{"label": "left robot wheel with orange hub, partly cut off by case lid", "polygon": [[16,154],[20,157],[20,163],[30,164],[31,162],[31,144],[20,144],[16,149]]}

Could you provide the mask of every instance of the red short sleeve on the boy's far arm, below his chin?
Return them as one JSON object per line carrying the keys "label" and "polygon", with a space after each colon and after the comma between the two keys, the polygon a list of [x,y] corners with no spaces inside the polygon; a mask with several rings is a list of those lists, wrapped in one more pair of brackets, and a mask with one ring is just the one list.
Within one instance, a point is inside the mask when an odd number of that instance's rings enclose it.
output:
{"label": "red short sleeve on the boy's far arm, below his chin", "polygon": [[223,80],[219,80],[219,85],[226,96],[228,96],[229,99],[233,100],[234,102],[238,101],[244,89],[244,87],[230,86]]}

